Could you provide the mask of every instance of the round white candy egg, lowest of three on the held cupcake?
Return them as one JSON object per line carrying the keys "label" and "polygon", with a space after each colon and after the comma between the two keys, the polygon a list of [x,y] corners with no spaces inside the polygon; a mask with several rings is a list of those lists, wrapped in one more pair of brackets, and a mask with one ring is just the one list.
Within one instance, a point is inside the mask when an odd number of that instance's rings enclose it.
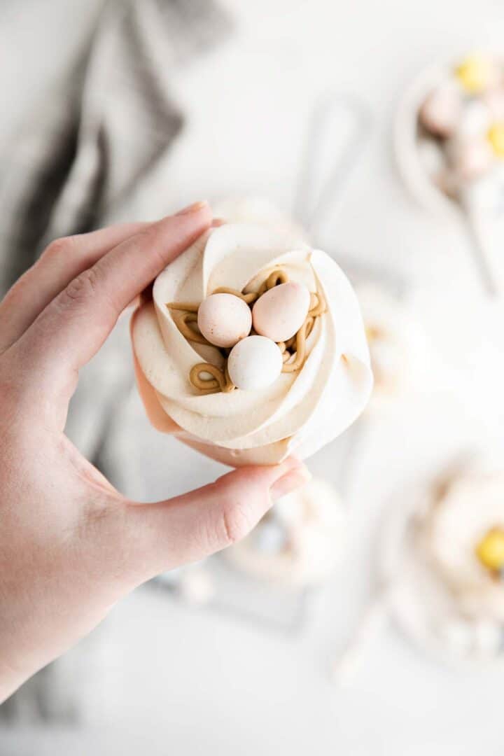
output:
{"label": "round white candy egg, lowest of three on the held cupcake", "polygon": [[266,336],[247,336],[233,346],[227,358],[230,379],[244,391],[270,386],[277,380],[282,367],[280,349]]}

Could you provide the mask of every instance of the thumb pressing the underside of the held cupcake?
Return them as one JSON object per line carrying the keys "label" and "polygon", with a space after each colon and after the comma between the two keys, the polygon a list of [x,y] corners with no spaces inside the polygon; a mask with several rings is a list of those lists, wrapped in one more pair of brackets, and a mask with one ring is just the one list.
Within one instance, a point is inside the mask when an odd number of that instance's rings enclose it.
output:
{"label": "thumb pressing the underside of the held cupcake", "polygon": [[215,483],[155,504],[129,503],[128,553],[138,583],[196,562],[240,541],[274,500],[311,475],[294,457],[276,466],[242,467]]}

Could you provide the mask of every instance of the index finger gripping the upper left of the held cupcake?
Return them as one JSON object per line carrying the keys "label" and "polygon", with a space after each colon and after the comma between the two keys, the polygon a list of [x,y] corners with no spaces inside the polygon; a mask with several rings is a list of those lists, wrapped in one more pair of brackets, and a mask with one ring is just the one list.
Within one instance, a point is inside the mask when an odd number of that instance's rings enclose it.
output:
{"label": "index finger gripping the upper left of the held cupcake", "polygon": [[[163,218],[118,244],[42,311],[12,348],[23,374],[58,389],[100,349],[119,314],[212,223],[206,202]],[[74,383],[73,380],[70,383]]]}

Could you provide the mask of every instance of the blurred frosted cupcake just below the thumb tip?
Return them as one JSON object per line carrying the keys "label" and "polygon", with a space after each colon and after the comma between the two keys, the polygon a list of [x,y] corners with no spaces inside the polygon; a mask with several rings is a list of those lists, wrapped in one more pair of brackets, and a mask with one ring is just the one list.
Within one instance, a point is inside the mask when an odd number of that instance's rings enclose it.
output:
{"label": "blurred frosted cupcake just below the thumb tip", "polygon": [[252,533],[224,552],[239,569],[288,586],[320,583],[342,559],[346,515],[328,482],[312,479],[282,497]]}

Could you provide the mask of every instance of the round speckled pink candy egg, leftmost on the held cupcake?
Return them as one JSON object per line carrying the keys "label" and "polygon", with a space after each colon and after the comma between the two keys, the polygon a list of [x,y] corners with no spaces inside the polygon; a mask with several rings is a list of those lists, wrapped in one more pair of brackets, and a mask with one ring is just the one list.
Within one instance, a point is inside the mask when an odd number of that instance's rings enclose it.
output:
{"label": "round speckled pink candy egg, leftmost on the held cupcake", "polygon": [[249,305],[234,294],[211,294],[198,309],[198,328],[215,346],[234,346],[252,327]]}

